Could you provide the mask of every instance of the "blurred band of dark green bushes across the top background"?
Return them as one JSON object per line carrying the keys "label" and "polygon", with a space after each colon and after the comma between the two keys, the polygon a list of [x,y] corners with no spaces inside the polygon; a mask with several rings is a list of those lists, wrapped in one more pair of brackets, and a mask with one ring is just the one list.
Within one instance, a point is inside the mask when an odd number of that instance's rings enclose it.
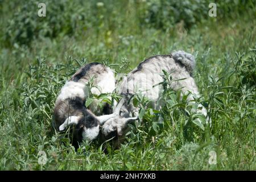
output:
{"label": "blurred band of dark green bushes across the top background", "polygon": [[[44,1],[47,15],[39,17],[38,1],[29,0],[26,3],[13,1],[7,4],[9,8],[15,9],[15,13],[11,16],[7,26],[3,27],[5,28],[4,41],[9,46],[13,46],[15,43],[29,46],[32,40],[40,40],[40,38],[56,38],[58,35],[74,35],[79,38],[88,30],[100,34],[100,31],[108,27],[109,31],[106,32],[105,37],[111,43],[112,39],[109,38],[109,34],[113,32],[114,28],[126,27],[125,22],[131,16],[131,14],[124,14],[123,9],[116,7],[132,7],[129,11],[135,16],[131,25],[140,23],[141,28],[154,27],[160,30],[170,30],[179,22],[183,22],[185,28],[190,28],[202,20],[209,19],[208,5],[210,2],[209,0],[106,0],[97,3],[92,0],[72,2],[47,0]],[[19,6],[16,7],[17,5]],[[229,18],[231,11],[235,11],[238,13],[235,15],[239,15],[247,9],[255,9],[253,0],[240,0],[233,3],[230,3],[229,0],[217,2],[217,12],[220,18]],[[119,18],[114,18],[115,16],[119,16]],[[76,34],[74,34],[75,32]]]}

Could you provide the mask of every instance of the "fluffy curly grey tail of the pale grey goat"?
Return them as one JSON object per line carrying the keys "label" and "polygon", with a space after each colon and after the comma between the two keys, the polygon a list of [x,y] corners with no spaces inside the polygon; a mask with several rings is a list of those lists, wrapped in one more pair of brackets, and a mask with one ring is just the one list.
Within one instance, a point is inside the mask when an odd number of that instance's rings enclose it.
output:
{"label": "fluffy curly grey tail of the pale grey goat", "polygon": [[189,73],[193,72],[193,69],[196,65],[195,57],[193,55],[185,51],[174,51],[171,53],[171,56],[176,61],[179,61],[181,64],[183,64]]}

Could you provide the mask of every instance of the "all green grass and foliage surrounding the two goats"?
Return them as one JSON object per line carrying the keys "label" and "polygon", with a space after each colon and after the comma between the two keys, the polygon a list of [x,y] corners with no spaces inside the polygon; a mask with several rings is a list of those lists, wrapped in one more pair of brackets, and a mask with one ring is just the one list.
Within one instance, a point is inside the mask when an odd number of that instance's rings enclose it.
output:
{"label": "all green grass and foliage surrounding the two goats", "polygon": [[[42,2],[46,17],[38,16],[39,1],[0,0],[1,170],[256,169],[254,0]],[[208,16],[210,2],[217,17]],[[196,123],[195,105],[167,88],[162,110],[144,109],[138,98],[147,122],[131,126],[118,150],[96,140],[76,152],[52,130],[56,96],[81,65],[100,61],[127,73],[175,49],[196,57],[211,127]],[[208,163],[210,151],[217,164]]]}

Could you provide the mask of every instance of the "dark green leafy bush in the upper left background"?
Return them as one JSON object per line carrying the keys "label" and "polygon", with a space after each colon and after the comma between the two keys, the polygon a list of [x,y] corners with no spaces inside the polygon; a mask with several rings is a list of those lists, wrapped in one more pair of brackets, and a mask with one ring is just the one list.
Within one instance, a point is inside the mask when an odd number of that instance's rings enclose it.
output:
{"label": "dark green leafy bush in the upper left background", "polygon": [[[38,1],[29,0],[16,9],[6,27],[5,41],[29,45],[38,38],[56,38],[58,35],[72,35],[77,31],[86,30],[94,23],[92,9],[88,1],[44,1],[46,17],[38,16]],[[18,29],[16,27],[19,27]]]}

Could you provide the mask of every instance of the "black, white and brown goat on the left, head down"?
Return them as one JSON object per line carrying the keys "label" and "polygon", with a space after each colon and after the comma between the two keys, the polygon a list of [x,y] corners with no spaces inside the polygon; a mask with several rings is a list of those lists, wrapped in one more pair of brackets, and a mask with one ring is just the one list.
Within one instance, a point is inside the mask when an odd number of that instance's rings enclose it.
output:
{"label": "black, white and brown goat on the left, head down", "polygon": [[112,93],[115,89],[113,71],[100,63],[90,63],[65,83],[55,102],[55,129],[64,131],[68,126],[74,126],[71,128],[72,144],[76,148],[82,140],[96,139],[100,132],[100,124],[109,118],[109,115],[94,114],[112,113],[109,104],[104,105],[105,113],[100,113],[100,108],[97,106],[101,100],[94,100],[89,108],[85,107],[86,97],[89,94],[87,84],[90,80],[93,80],[93,87],[90,90],[93,94]]}

